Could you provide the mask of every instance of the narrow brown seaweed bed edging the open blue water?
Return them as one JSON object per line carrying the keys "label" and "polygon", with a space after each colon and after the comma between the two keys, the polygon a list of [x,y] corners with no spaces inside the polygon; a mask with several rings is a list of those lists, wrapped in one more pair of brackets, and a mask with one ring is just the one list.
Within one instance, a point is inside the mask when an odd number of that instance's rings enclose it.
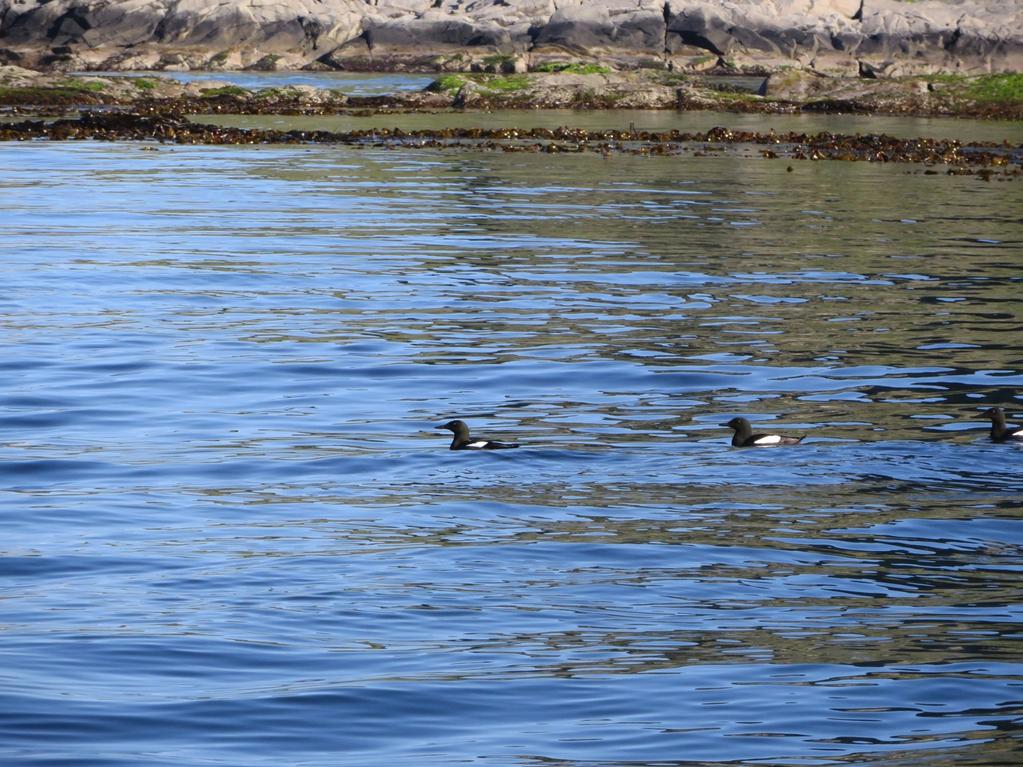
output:
{"label": "narrow brown seaweed bed edging the open blue water", "polygon": [[834,133],[760,133],[713,128],[702,133],[679,131],[587,131],[577,128],[484,129],[440,131],[372,129],[276,131],[202,125],[181,115],[83,112],[77,119],[30,120],[0,124],[0,140],[157,141],[177,144],[339,144],[385,148],[458,147],[481,151],[598,152],[643,155],[696,155],[743,147],[768,159],[839,160],[909,163],[928,166],[925,173],[976,174],[989,179],[1023,175],[1023,146],[953,139],[899,139],[887,135]]}

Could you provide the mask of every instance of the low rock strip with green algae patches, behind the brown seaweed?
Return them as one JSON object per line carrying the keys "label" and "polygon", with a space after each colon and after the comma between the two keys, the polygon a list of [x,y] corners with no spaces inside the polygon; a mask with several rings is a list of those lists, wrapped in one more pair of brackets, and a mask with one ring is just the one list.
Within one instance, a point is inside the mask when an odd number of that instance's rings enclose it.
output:
{"label": "low rock strip with green algae patches, behind the brown seaweed", "polygon": [[0,108],[15,112],[106,107],[139,114],[329,115],[353,110],[714,109],[1023,119],[1023,76],[835,78],[774,73],[758,92],[728,80],[663,71],[565,64],[548,72],[450,74],[417,92],[353,96],[312,86],[246,89],[229,82],[71,77],[0,66]]}

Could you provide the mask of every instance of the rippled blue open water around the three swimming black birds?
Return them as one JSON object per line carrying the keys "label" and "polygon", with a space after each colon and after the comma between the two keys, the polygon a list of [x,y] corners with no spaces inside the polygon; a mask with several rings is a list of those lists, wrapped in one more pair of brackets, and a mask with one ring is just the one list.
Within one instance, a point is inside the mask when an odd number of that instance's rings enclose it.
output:
{"label": "rippled blue open water around the three swimming black birds", "polygon": [[1019,182],[0,164],[4,764],[1023,759]]}

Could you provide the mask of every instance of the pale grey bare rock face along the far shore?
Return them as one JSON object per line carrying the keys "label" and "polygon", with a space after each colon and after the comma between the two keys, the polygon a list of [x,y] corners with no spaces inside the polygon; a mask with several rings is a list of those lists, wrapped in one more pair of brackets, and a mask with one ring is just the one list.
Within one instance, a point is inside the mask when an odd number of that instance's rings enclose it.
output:
{"label": "pale grey bare rock face along the far shore", "polygon": [[981,72],[1023,69],[1023,0],[0,0],[0,51],[96,67],[470,69],[494,55],[592,55]]}

